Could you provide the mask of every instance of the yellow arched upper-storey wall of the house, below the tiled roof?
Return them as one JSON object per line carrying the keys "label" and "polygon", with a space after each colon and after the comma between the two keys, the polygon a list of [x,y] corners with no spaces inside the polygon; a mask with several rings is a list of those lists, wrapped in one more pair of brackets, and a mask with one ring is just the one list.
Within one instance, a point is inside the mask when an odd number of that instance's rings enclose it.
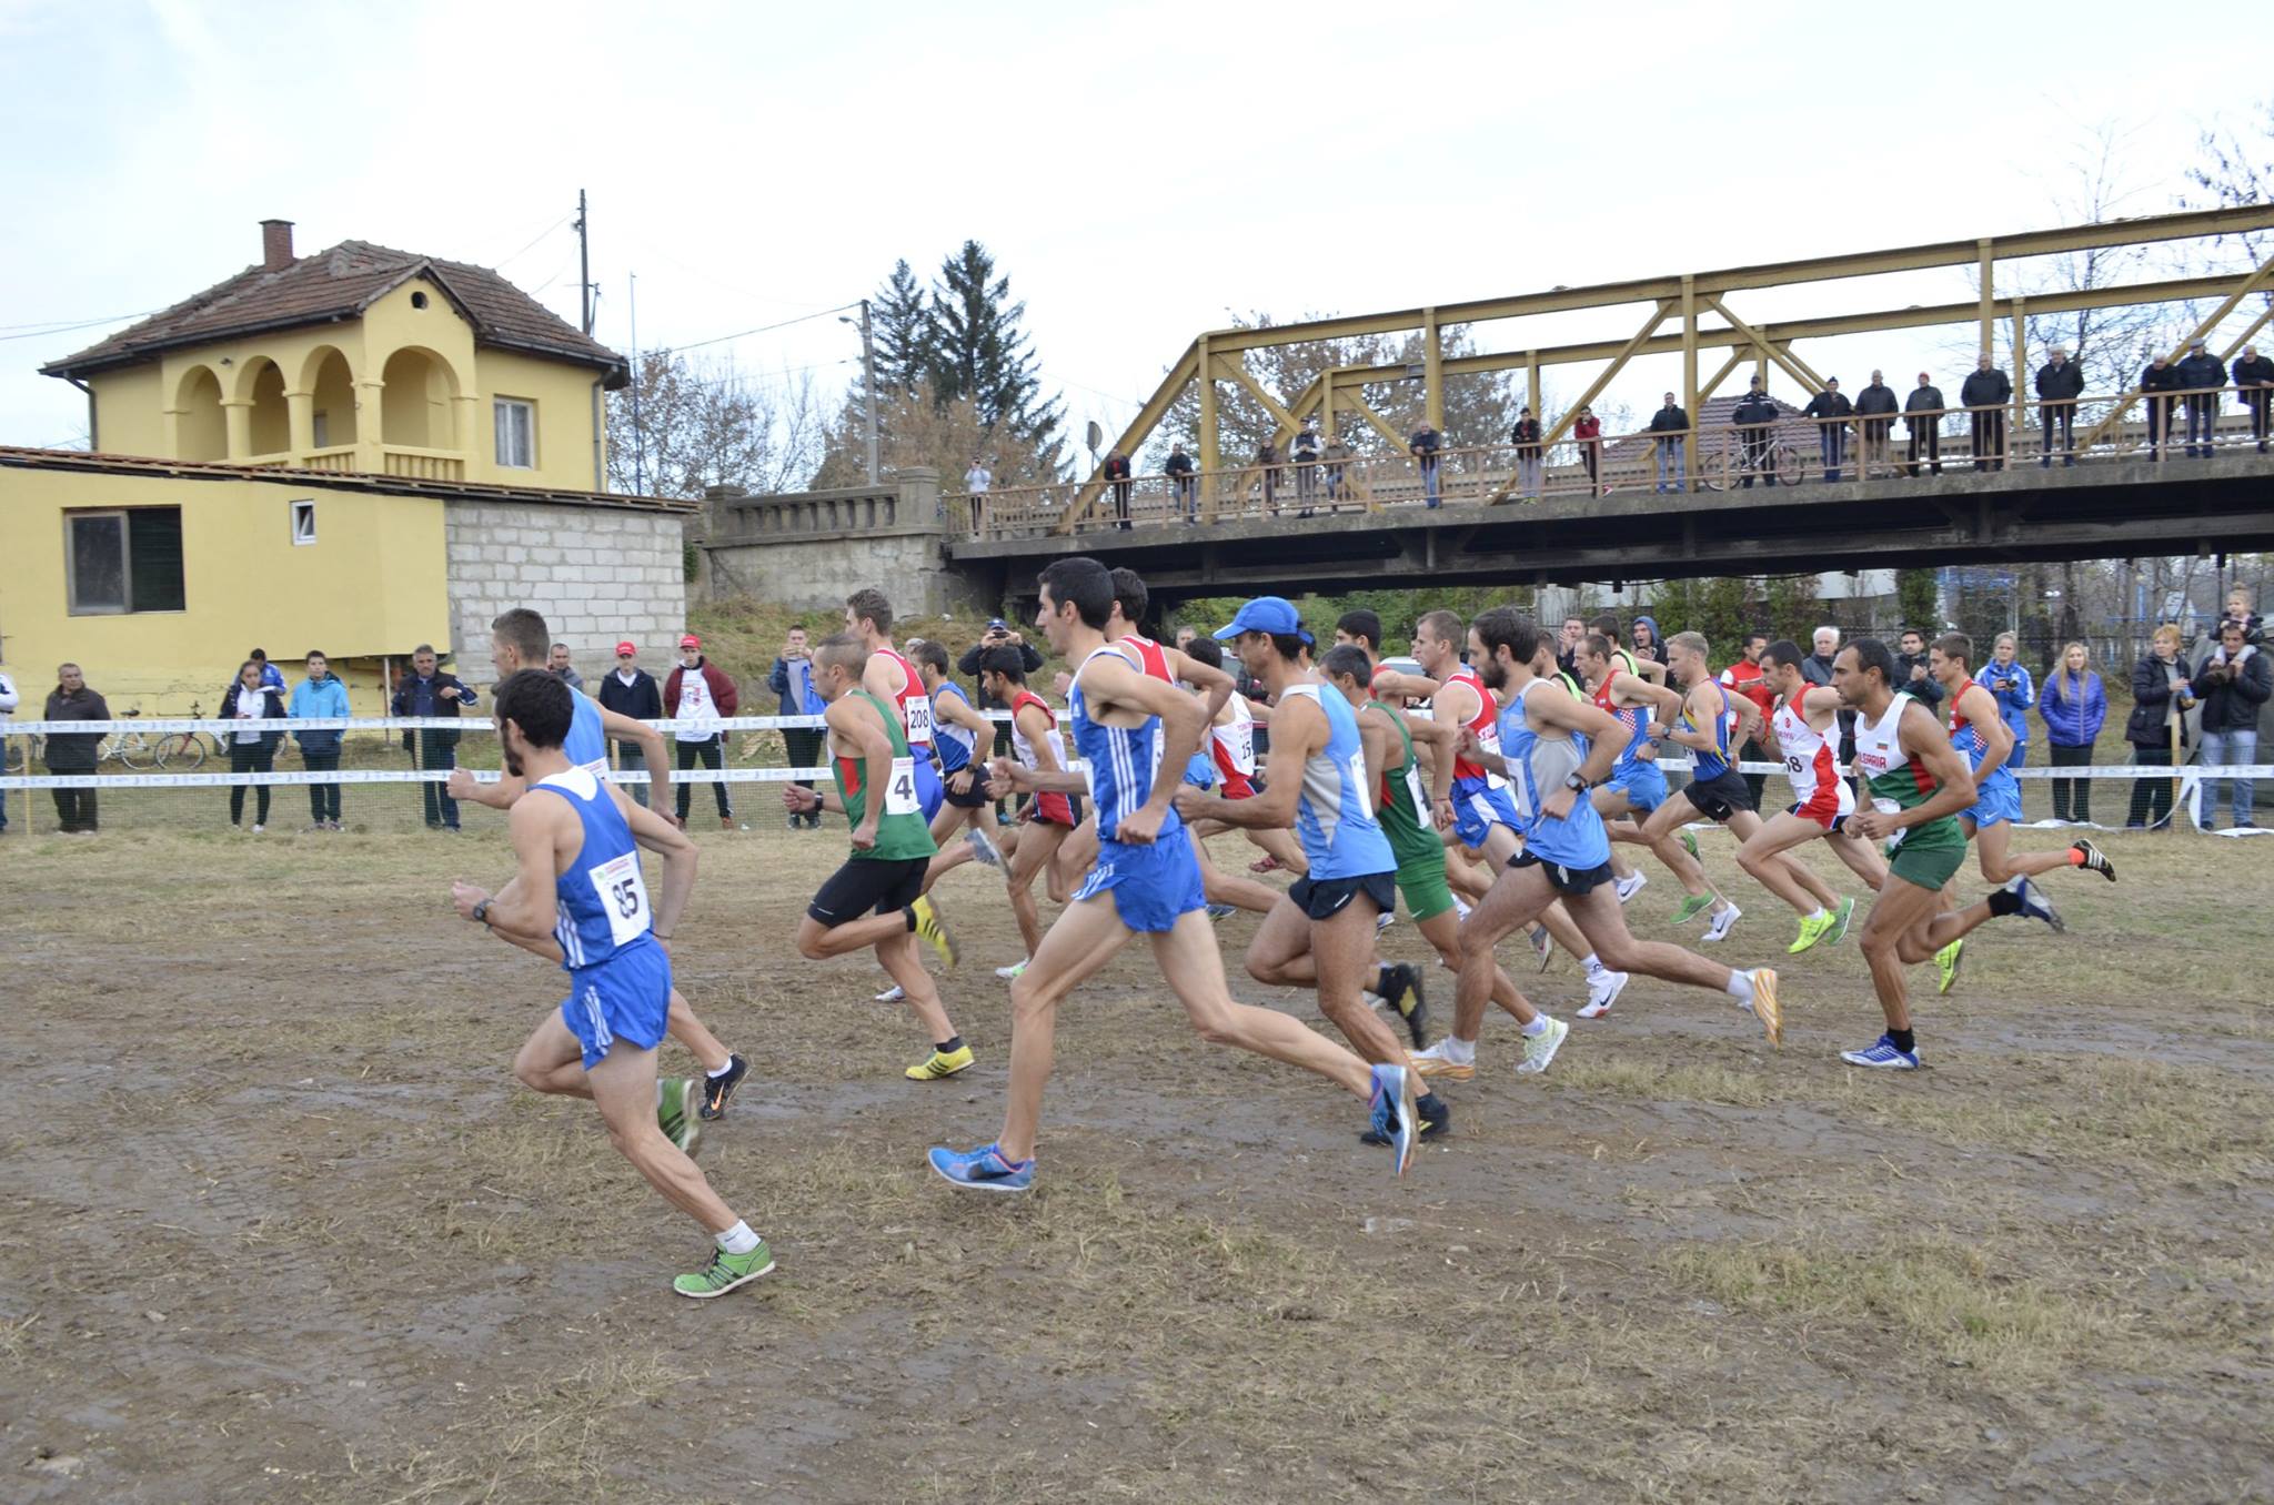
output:
{"label": "yellow arched upper-storey wall of the house, below the tiled roof", "polygon": [[[425,307],[414,307],[425,296]],[[325,350],[339,350],[348,364],[348,391],[323,393],[318,402],[318,368]],[[398,359],[389,384],[389,359],[402,350],[421,350],[428,364]],[[277,441],[271,405],[255,409],[262,396],[262,373],[275,364],[287,405],[296,409]],[[225,432],[216,432],[211,409],[186,411],[182,393],[211,373],[221,384]],[[352,423],[332,414],[327,448],[355,446],[355,471],[387,473],[387,446],[448,450],[462,459],[457,480],[505,487],[546,487],[559,491],[598,491],[594,475],[594,382],[600,373],[539,355],[475,348],[468,325],[434,282],[414,277],[373,302],[362,318],[307,325],[273,334],[216,341],[189,350],[171,350],[159,359],[89,377],[96,391],[96,423],[102,450],[109,455],[155,455],[159,459],[275,459],[302,464],[316,448],[314,411],[352,400]],[[416,382],[416,389],[409,386]],[[498,464],[493,398],[523,398],[537,405],[537,466],[507,468]],[[387,432],[387,416],[396,432]],[[416,427],[423,423],[425,434]]]}

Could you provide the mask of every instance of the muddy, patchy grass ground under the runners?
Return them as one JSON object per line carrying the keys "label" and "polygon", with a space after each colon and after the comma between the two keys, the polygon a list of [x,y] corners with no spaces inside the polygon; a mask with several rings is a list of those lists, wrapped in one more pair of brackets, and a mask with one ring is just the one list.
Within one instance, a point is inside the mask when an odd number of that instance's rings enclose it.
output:
{"label": "muddy, patchy grass ground under the runners", "polygon": [[[780,1259],[719,1303],[669,1294],[703,1239],[591,1109],[507,1075],[559,975],[448,914],[493,823],[11,837],[0,1496],[2274,1498],[2269,841],[2056,875],[2069,934],[1985,930],[1908,1078],[1837,1062],[1878,1030],[1853,943],[1785,966],[1783,1053],[1637,980],[1519,1080],[1494,1018],[1403,1182],[1130,950],[1012,1200],[921,1162],[1001,1116],[996,880],[941,887],[980,1064],[919,1087],[875,968],[787,946],[841,834],[703,839],[678,971],[755,1064],[703,1166]],[[1733,884],[1731,955],[1783,964]]]}

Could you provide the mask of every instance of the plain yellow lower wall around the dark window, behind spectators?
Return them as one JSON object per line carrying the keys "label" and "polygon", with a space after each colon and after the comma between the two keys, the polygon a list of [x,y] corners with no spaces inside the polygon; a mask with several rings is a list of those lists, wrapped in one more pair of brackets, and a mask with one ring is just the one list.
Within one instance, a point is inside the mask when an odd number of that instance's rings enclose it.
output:
{"label": "plain yellow lower wall around the dark window, behind spectators", "polygon": [[[291,541],[293,500],[316,502],[316,543]],[[186,609],[70,616],[64,514],[82,507],[180,507]],[[248,648],[266,648],[293,684],[298,659],[323,648],[355,712],[380,714],[375,675],[346,659],[423,641],[450,641],[441,500],[0,466],[0,664],[27,696],[70,659],[114,712],[186,714],[202,700],[214,714]]]}

